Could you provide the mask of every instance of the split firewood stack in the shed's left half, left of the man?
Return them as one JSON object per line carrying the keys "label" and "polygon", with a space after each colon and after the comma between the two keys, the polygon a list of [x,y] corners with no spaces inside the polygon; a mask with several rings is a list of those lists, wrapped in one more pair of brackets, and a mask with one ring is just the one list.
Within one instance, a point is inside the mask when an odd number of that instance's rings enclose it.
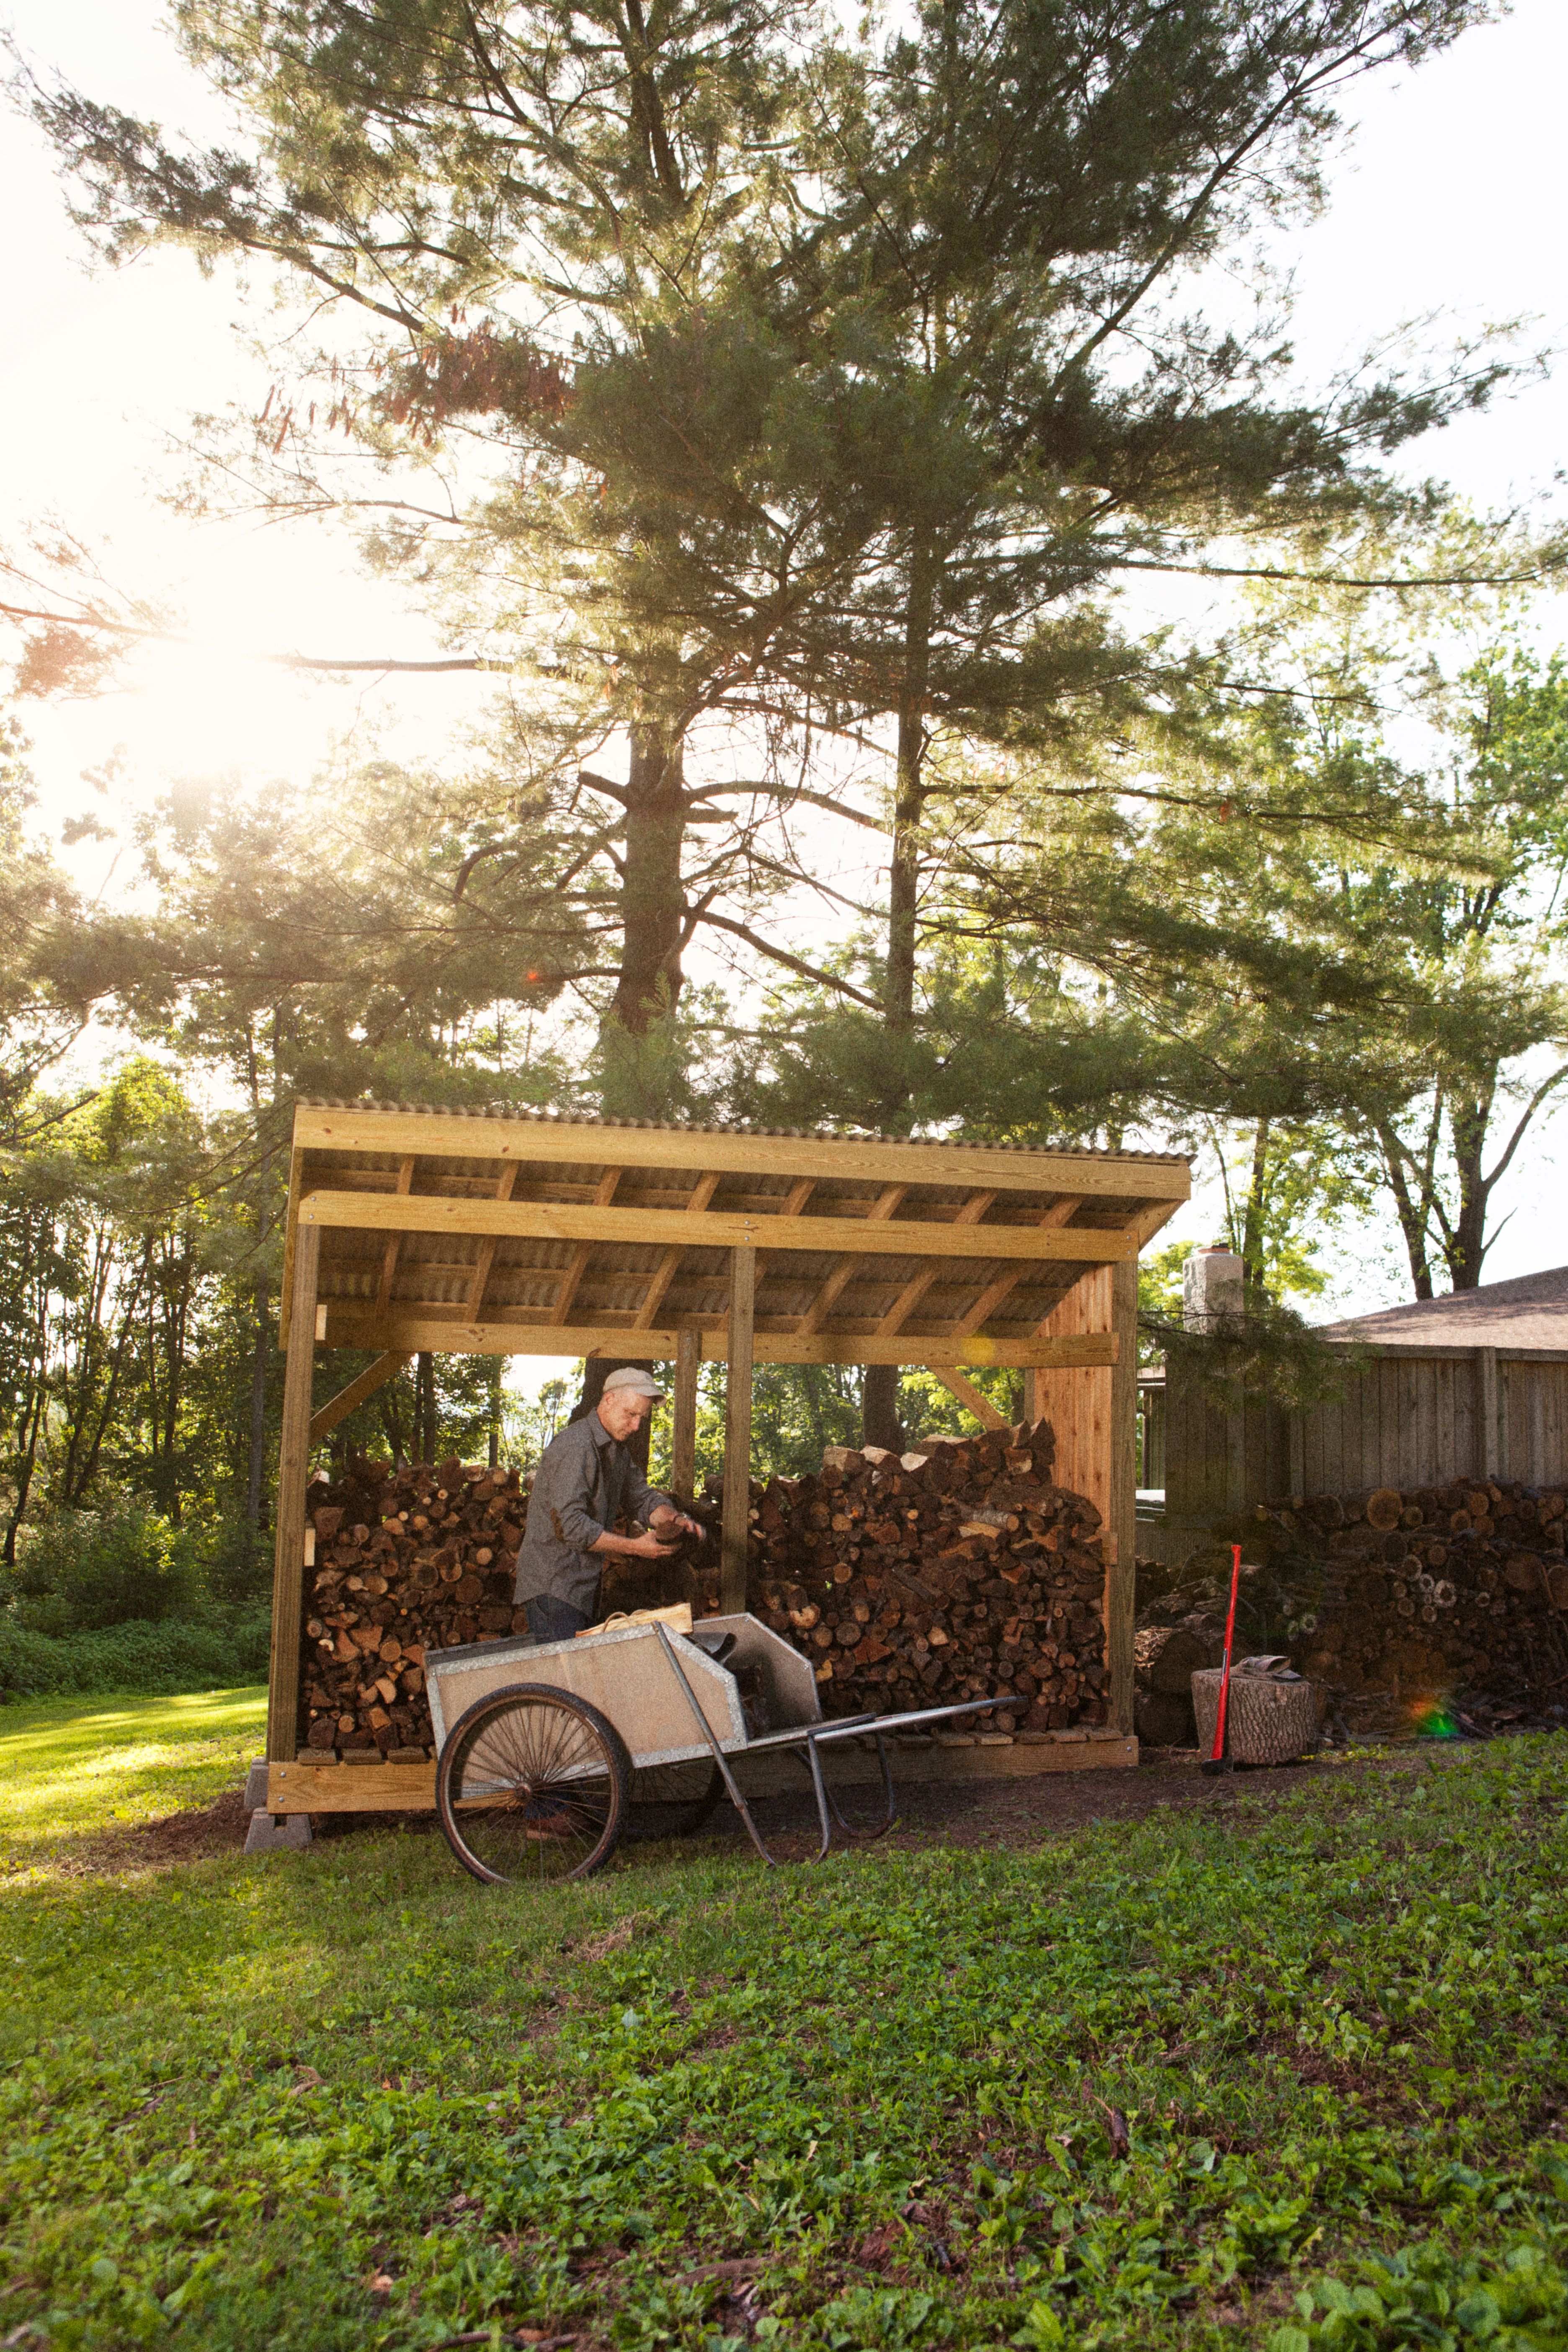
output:
{"label": "split firewood stack in the shed's left half, left of the man", "polygon": [[336,1484],[310,1486],[301,1745],[430,1745],[425,1651],[527,1630],[512,1609],[524,1508],[515,1470],[458,1461],[395,1475],[353,1461]]}

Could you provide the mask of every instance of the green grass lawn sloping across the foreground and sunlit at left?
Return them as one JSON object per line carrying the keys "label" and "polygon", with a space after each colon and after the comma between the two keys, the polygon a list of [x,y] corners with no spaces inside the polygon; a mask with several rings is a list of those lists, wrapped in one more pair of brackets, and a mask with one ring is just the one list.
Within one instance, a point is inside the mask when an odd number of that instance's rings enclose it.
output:
{"label": "green grass lawn sloping across the foreground and sunlit at left", "polygon": [[[7,1835],[200,1797],[223,1705],[28,1710]],[[414,1830],[14,1875],[0,2338],[1568,2347],[1568,1740],[1248,1785],[548,1896]]]}

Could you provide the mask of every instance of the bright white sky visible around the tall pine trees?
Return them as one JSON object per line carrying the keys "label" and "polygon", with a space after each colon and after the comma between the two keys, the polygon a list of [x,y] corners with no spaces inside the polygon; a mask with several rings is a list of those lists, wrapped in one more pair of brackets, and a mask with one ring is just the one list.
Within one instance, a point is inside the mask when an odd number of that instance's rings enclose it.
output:
{"label": "bright white sky visible around the tall pine trees", "polygon": [[[21,49],[125,111],[221,139],[212,96],[179,64],[146,0],[12,0]],[[1467,33],[1415,75],[1361,85],[1354,134],[1331,169],[1331,202],[1293,233],[1295,346],[1316,381],[1392,327],[1425,322],[1422,343],[1533,318],[1528,348],[1561,346],[1568,287],[1561,240],[1561,92],[1568,12],[1519,0],[1502,24]],[[473,680],[313,684],[247,659],[252,649],[343,656],[433,652],[428,623],[397,590],[367,579],[346,539],[322,529],[200,524],[158,503],[179,477],[172,447],[186,419],[256,402],[268,374],[247,348],[233,278],[202,280],[179,254],[92,273],[71,226],[52,155],[28,125],[7,125],[0,205],[5,256],[0,435],[24,452],[0,489],[0,527],[59,517],[108,541],[118,574],[167,593],[190,614],[193,652],[148,652],[127,691],[33,708],[35,771],[52,830],[103,809],[82,781],[125,746],[125,793],[146,802],[172,774],[247,767],[308,774],[334,731],[376,724],[402,750],[437,753],[480,710]],[[1279,256],[1281,247],[1272,252]],[[256,285],[252,299],[266,301]],[[1566,428],[1568,372],[1469,416],[1420,452],[1476,506],[1497,508],[1552,485]],[[1568,623],[1561,628],[1568,637]],[[113,844],[82,849],[80,870],[118,887]],[[1568,1129],[1556,1131],[1568,1134]],[[1519,1162],[1514,1216],[1488,1277],[1563,1258],[1554,1134]],[[1208,1237],[1211,1200],[1175,1232]],[[1385,1235],[1349,1244],[1333,1308],[1382,1305],[1408,1277]]]}

